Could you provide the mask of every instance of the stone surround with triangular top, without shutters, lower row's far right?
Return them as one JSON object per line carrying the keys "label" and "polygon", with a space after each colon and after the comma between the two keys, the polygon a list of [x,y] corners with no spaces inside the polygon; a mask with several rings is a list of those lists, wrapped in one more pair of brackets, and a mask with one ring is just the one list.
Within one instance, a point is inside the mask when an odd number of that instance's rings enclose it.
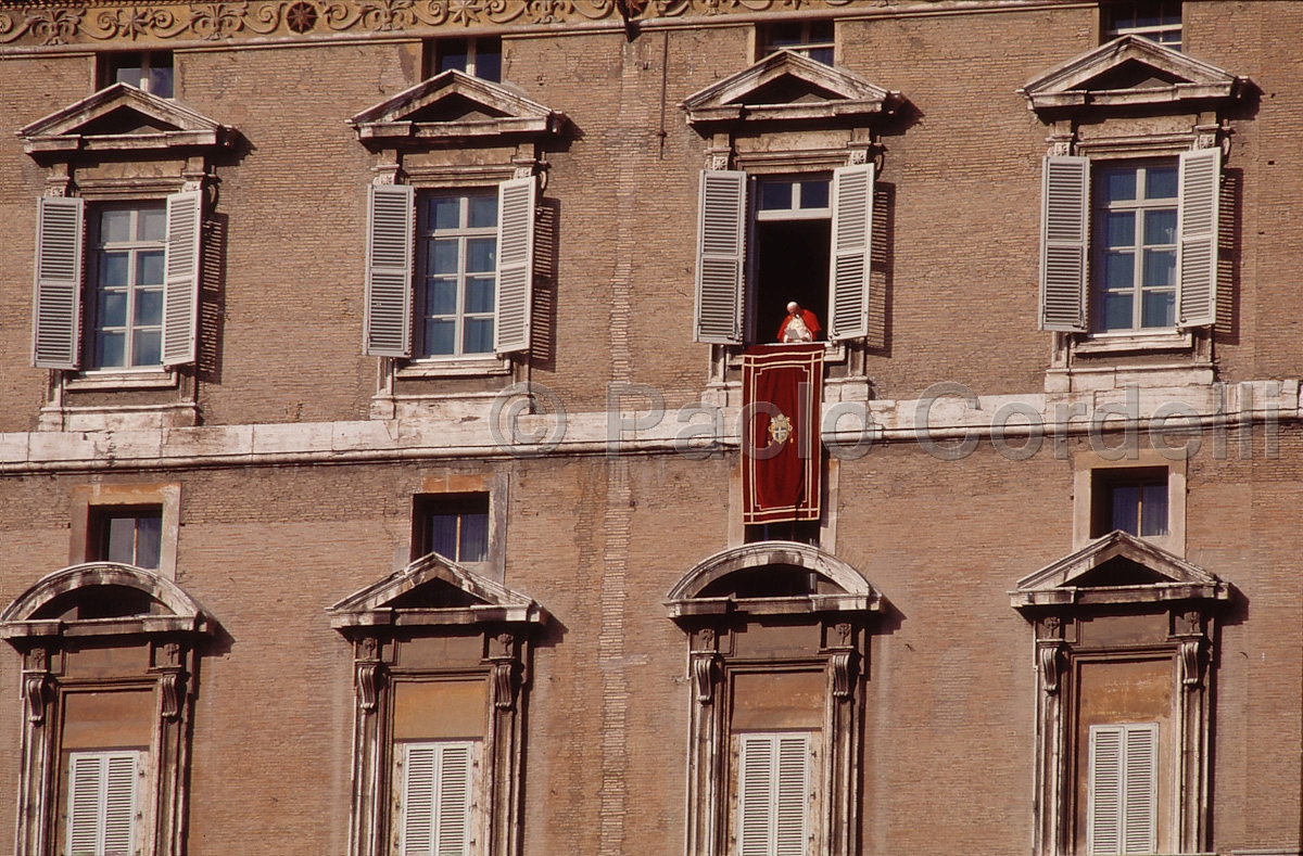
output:
{"label": "stone surround with triangular top, without shutters, lower row's far right", "polygon": [[[1089,575],[1122,558],[1143,576],[1127,584],[1110,579],[1096,585]],[[1076,852],[1076,769],[1080,699],[1076,680],[1083,663],[1167,660],[1173,675],[1171,852],[1208,848],[1212,747],[1212,680],[1217,626],[1231,598],[1226,582],[1148,542],[1114,531],[1035,574],[1018,580],[1010,605],[1031,623],[1036,670],[1035,856],[1084,856]],[[1083,637],[1093,619],[1148,617],[1165,628],[1134,639],[1095,641]],[[1160,762],[1161,764],[1161,762]],[[1162,805],[1158,807],[1160,818]]]}

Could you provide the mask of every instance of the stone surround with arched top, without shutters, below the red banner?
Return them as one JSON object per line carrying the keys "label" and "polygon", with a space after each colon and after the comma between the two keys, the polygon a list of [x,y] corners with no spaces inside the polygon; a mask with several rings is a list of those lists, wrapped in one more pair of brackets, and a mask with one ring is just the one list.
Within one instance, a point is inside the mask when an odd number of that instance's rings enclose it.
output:
{"label": "stone surround with arched top, without shutters, below the red banner", "polygon": [[[782,565],[822,578],[826,591],[792,597],[704,597],[713,583],[739,571]],[[734,795],[730,792],[732,731],[731,679],[736,674],[818,670],[826,675],[823,725],[816,749],[821,760],[818,810],[810,817],[812,852],[859,852],[859,784],[863,779],[864,678],[868,636],[882,595],[853,567],[822,550],[794,542],[758,542],[722,550],[689,570],[670,591],[668,617],[688,641],[691,713],[688,722],[688,856],[727,856]],[[780,661],[735,653],[735,635],[761,622],[817,627],[821,643]]]}

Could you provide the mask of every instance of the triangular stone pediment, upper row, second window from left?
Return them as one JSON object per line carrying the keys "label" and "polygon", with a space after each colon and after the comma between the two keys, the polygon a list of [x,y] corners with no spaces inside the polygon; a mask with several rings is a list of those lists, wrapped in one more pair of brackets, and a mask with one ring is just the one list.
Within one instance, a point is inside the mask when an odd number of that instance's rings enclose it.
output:
{"label": "triangular stone pediment, upper row, second window from left", "polygon": [[364,140],[456,139],[560,131],[564,113],[456,69],[370,107],[348,124]]}

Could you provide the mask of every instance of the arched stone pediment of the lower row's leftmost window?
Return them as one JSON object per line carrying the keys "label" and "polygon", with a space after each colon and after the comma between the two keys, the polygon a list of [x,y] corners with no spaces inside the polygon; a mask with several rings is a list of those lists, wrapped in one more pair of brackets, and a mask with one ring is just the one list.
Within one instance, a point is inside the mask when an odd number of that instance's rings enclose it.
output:
{"label": "arched stone pediment of the lower row's leftmost window", "polygon": [[[87,608],[94,608],[86,614]],[[172,580],[132,565],[89,562],[38,580],[0,613],[0,639],[215,630]]]}

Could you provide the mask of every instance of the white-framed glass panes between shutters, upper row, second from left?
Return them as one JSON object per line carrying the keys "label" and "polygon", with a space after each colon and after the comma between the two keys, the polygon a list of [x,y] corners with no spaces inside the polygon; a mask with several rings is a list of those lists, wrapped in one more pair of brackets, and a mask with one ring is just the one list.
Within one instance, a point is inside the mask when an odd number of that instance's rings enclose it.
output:
{"label": "white-framed glass panes between shutters, upper row, second from left", "polygon": [[498,194],[425,194],[418,228],[418,353],[491,354]]}

